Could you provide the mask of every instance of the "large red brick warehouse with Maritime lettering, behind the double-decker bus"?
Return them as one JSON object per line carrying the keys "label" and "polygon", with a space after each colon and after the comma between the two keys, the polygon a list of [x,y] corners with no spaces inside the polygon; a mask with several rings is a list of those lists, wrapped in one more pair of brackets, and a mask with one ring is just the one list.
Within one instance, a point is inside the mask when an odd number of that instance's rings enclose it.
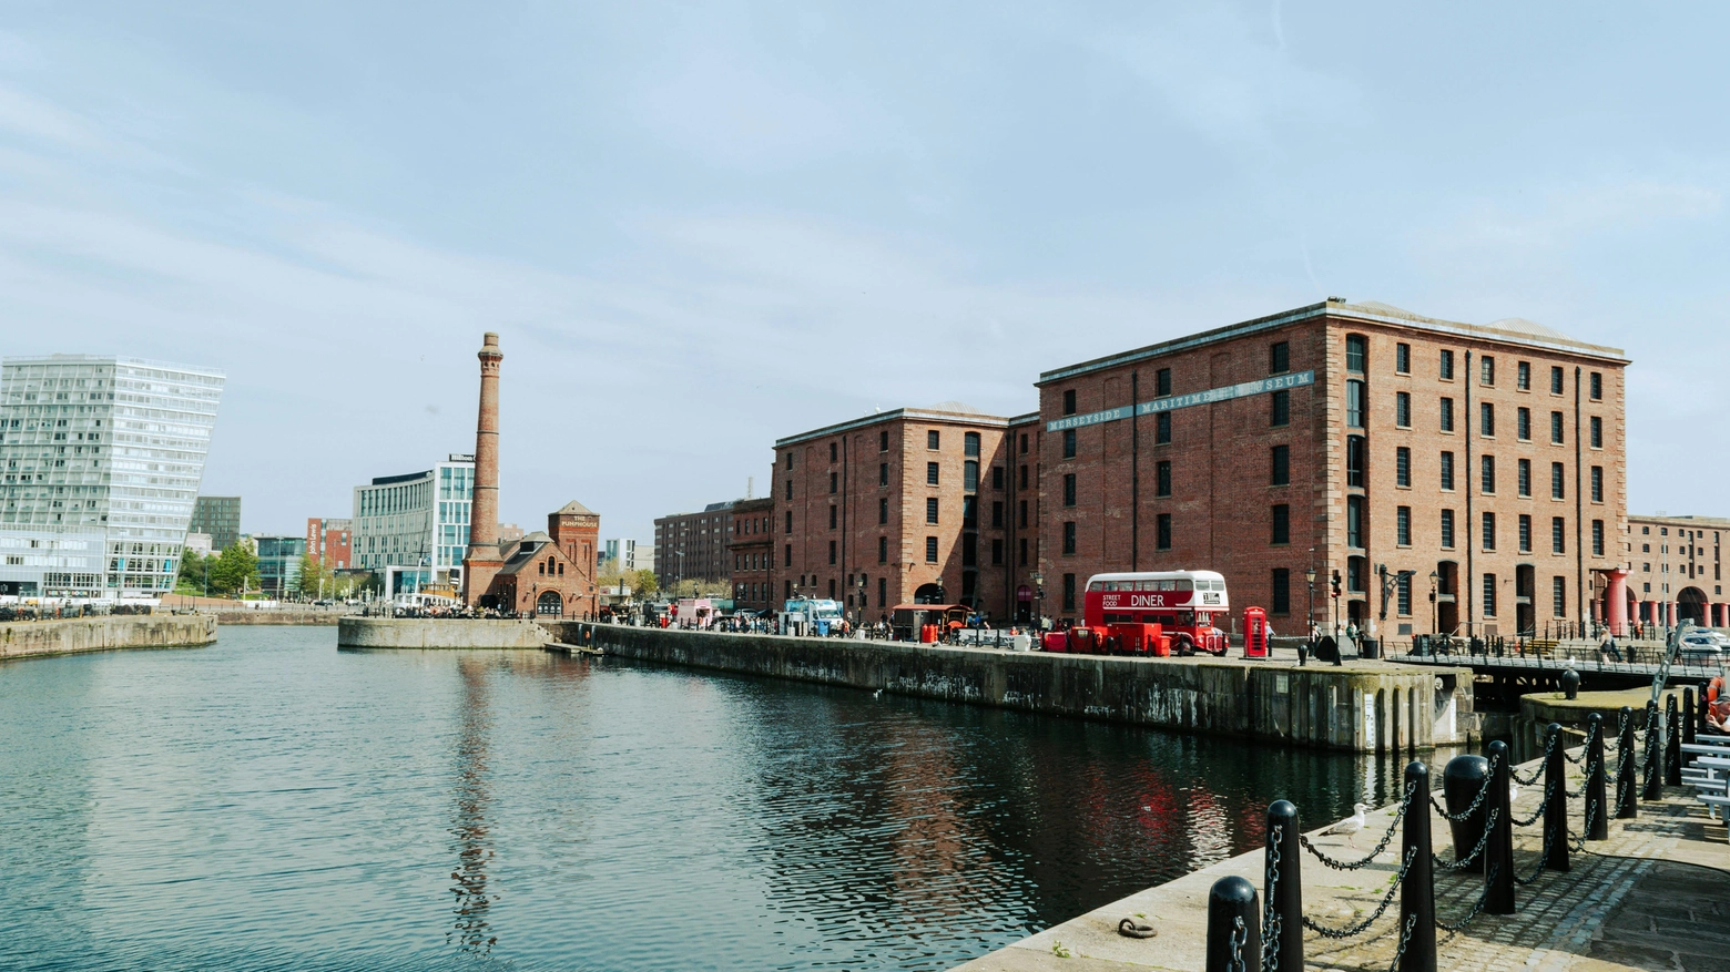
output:
{"label": "large red brick warehouse with Maritime lettering, behind the double-decker bus", "polygon": [[1313,567],[1318,619],[1339,571],[1341,623],[1386,635],[1614,621],[1626,365],[1524,320],[1330,299],[1047,372],[1048,611],[1076,617],[1095,572],[1214,569],[1298,633]]}

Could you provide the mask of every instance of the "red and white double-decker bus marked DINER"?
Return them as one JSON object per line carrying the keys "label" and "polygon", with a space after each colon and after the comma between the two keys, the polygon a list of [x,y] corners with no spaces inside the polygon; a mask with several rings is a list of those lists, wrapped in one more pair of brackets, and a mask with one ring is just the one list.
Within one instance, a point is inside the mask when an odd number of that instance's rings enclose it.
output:
{"label": "red and white double-decker bus marked DINER", "polygon": [[1097,631],[1112,624],[1159,624],[1176,654],[1223,655],[1227,636],[1214,621],[1230,609],[1225,578],[1214,571],[1093,574],[1086,581],[1083,619]]}

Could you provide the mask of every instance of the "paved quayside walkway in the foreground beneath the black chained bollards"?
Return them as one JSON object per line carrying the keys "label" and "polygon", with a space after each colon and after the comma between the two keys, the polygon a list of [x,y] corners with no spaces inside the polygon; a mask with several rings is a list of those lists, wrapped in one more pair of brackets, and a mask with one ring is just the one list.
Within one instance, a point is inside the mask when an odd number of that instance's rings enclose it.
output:
{"label": "paved quayside walkway in the foreground beneath the black chained bollards", "polygon": [[[1633,721],[1640,721],[1635,714]],[[1616,754],[1616,730],[1611,726],[1607,773],[1633,770]],[[1663,745],[1663,740],[1659,739]],[[1500,744],[1493,744],[1498,749]],[[1306,925],[1332,930],[1349,930],[1367,925],[1349,937],[1334,939],[1306,929],[1301,934],[1304,969],[1341,969],[1384,972],[1389,969],[1509,969],[1509,970],[1607,970],[1607,969],[1730,969],[1730,844],[1725,825],[1711,820],[1688,787],[1647,789],[1644,773],[1637,789],[1623,794],[1616,782],[1607,782],[1605,799],[1614,815],[1626,811],[1624,803],[1642,792],[1656,799],[1640,799],[1633,820],[1611,818],[1602,841],[1588,841],[1588,803],[1595,803],[1593,787],[1585,773],[1592,768],[1590,751],[1566,756],[1569,797],[1567,827],[1569,870],[1545,868],[1545,763],[1531,763],[1514,770],[1522,782],[1510,804],[1512,873],[1517,879],[1512,913],[1507,903],[1491,903],[1495,880],[1484,873],[1448,870],[1457,860],[1450,842],[1446,809],[1465,809],[1467,799],[1458,789],[1455,799],[1441,806],[1443,796],[1434,794],[1429,804],[1429,823],[1434,835],[1434,963],[1401,951],[1415,948],[1417,936],[1406,937],[1401,927],[1401,910],[1406,906],[1405,880],[1396,880],[1401,860],[1417,860],[1401,853],[1405,822],[1398,808],[1384,808],[1367,815],[1363,828],[1353,837],[1325,835],[1332,822],[1322,822],[1308,834],[1317,851],[1336,861],[1358,861],[1377,849],[1382,853],[1356,870],[1323,866],[1313,853],[1296,854],[1301,860],[1303,903]],[[1574,764],[1573,761],[1579,761]],[[1645,756],[1640,754],[1642,770]],[[1441,770],[1432,782],[1441,782]],[[1413,778],[1408,775],[1408,780]],[[1663,778],[1663,777],[1659,777]],[[1493,773],[1481,792],[1505,782],[1507,775]],[[1495,803],[1479,801],[1479,803]],[[1275,804],[1280,808],[1282,804]],[[1289,804],[1284,804],[1289,809]],[[1479,808],[1483,813],[1483,808]],[[1270,811],[1270,818],[1277,818]],[[1313,822],[1311,822],[1313,823]],[[1299,823],[1301,825],[1301,823]],[[1483,837],[1488,844],[1481,853],[1493,863],[1505,860],[1495,847],[1493,827]],[[1296,847],[1296,841],[1284,841]],[[1554,851],[1554,844],[1550,846]],[[1470,847],[1467,847],[1470,853]],[[1470,856],[1470,854],[1469,854]],[[1280,858],[1273,858],[1280,860]],[[1147,970],[1202,970],[1235,969],[1239,965],[1208,962],[1209,894],[1221,879],[1242,879],[1237,887],[1247,896],[1251,889],[1263,892],[1268,886],[1265,851],[1253,851],[1230,861],[1190,873],[1169,884],[1152,887],[1099,908],[1088,915],[1047,929],[1009,948],[977,958],[957,972],[1147,972]],[[1280,865],[1275,865],[1280,870]],[[1282,873],[1291,873],[1284,872]],[[1275,884],[1277,887],[1277,884]],[[1278,899],[1278,892],[1275,894]],[[1384,905],[1386,903],[1386,905]],[[1486,908],[1486,903],[1491,905]],[[1221,908],[1221,915],[1227,910]],[[1239,927],[1237,943],[1272,943],[1268,960],[1259,960],[1259,950],[1239,948],[1240,967],[1249,970],[1278,969],[1275,951],[1294,963],[1291,946],[1275,948],[1282,932],[1265,936],[1261,920],[1277,917],[1278,908],[1266,908],[1259,898],[1244,908],[1251,913],[1249,925]],[[1119,924],[1130,918],[1133,925],[1150,927],[1152,937],[1119,934]],[[1270,922],[1272,924],[1272,922]],[[1460,927],[1464,924],[1464,927]],[[1230,925],[1223,925],[1230,927]],[[1278,927],[1278,925],[1275,925]],[[1410,922],[1415,927],[1415,920]],[[1457,930],[1448,930],[1457,927]],[[1133,930],[1133,927],[1131,927]],[[1145,934],[1145,932],[1144,932]],[[1218,939],[1216,939],[1218,941]],[[1230,939],[1227,939],[1230,941]]]}

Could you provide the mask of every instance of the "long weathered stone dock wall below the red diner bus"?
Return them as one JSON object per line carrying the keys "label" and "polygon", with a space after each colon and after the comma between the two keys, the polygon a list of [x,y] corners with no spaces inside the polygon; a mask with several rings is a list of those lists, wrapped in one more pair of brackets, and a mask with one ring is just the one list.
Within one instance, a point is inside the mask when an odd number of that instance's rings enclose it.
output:
{"label": "long weathered stone dock wall below the red diner bus", "polygon": [[555,640],[663,664],[1028,713],[1374,752],[1464,744],[1470,669],[1140,659],[550,621]]}

